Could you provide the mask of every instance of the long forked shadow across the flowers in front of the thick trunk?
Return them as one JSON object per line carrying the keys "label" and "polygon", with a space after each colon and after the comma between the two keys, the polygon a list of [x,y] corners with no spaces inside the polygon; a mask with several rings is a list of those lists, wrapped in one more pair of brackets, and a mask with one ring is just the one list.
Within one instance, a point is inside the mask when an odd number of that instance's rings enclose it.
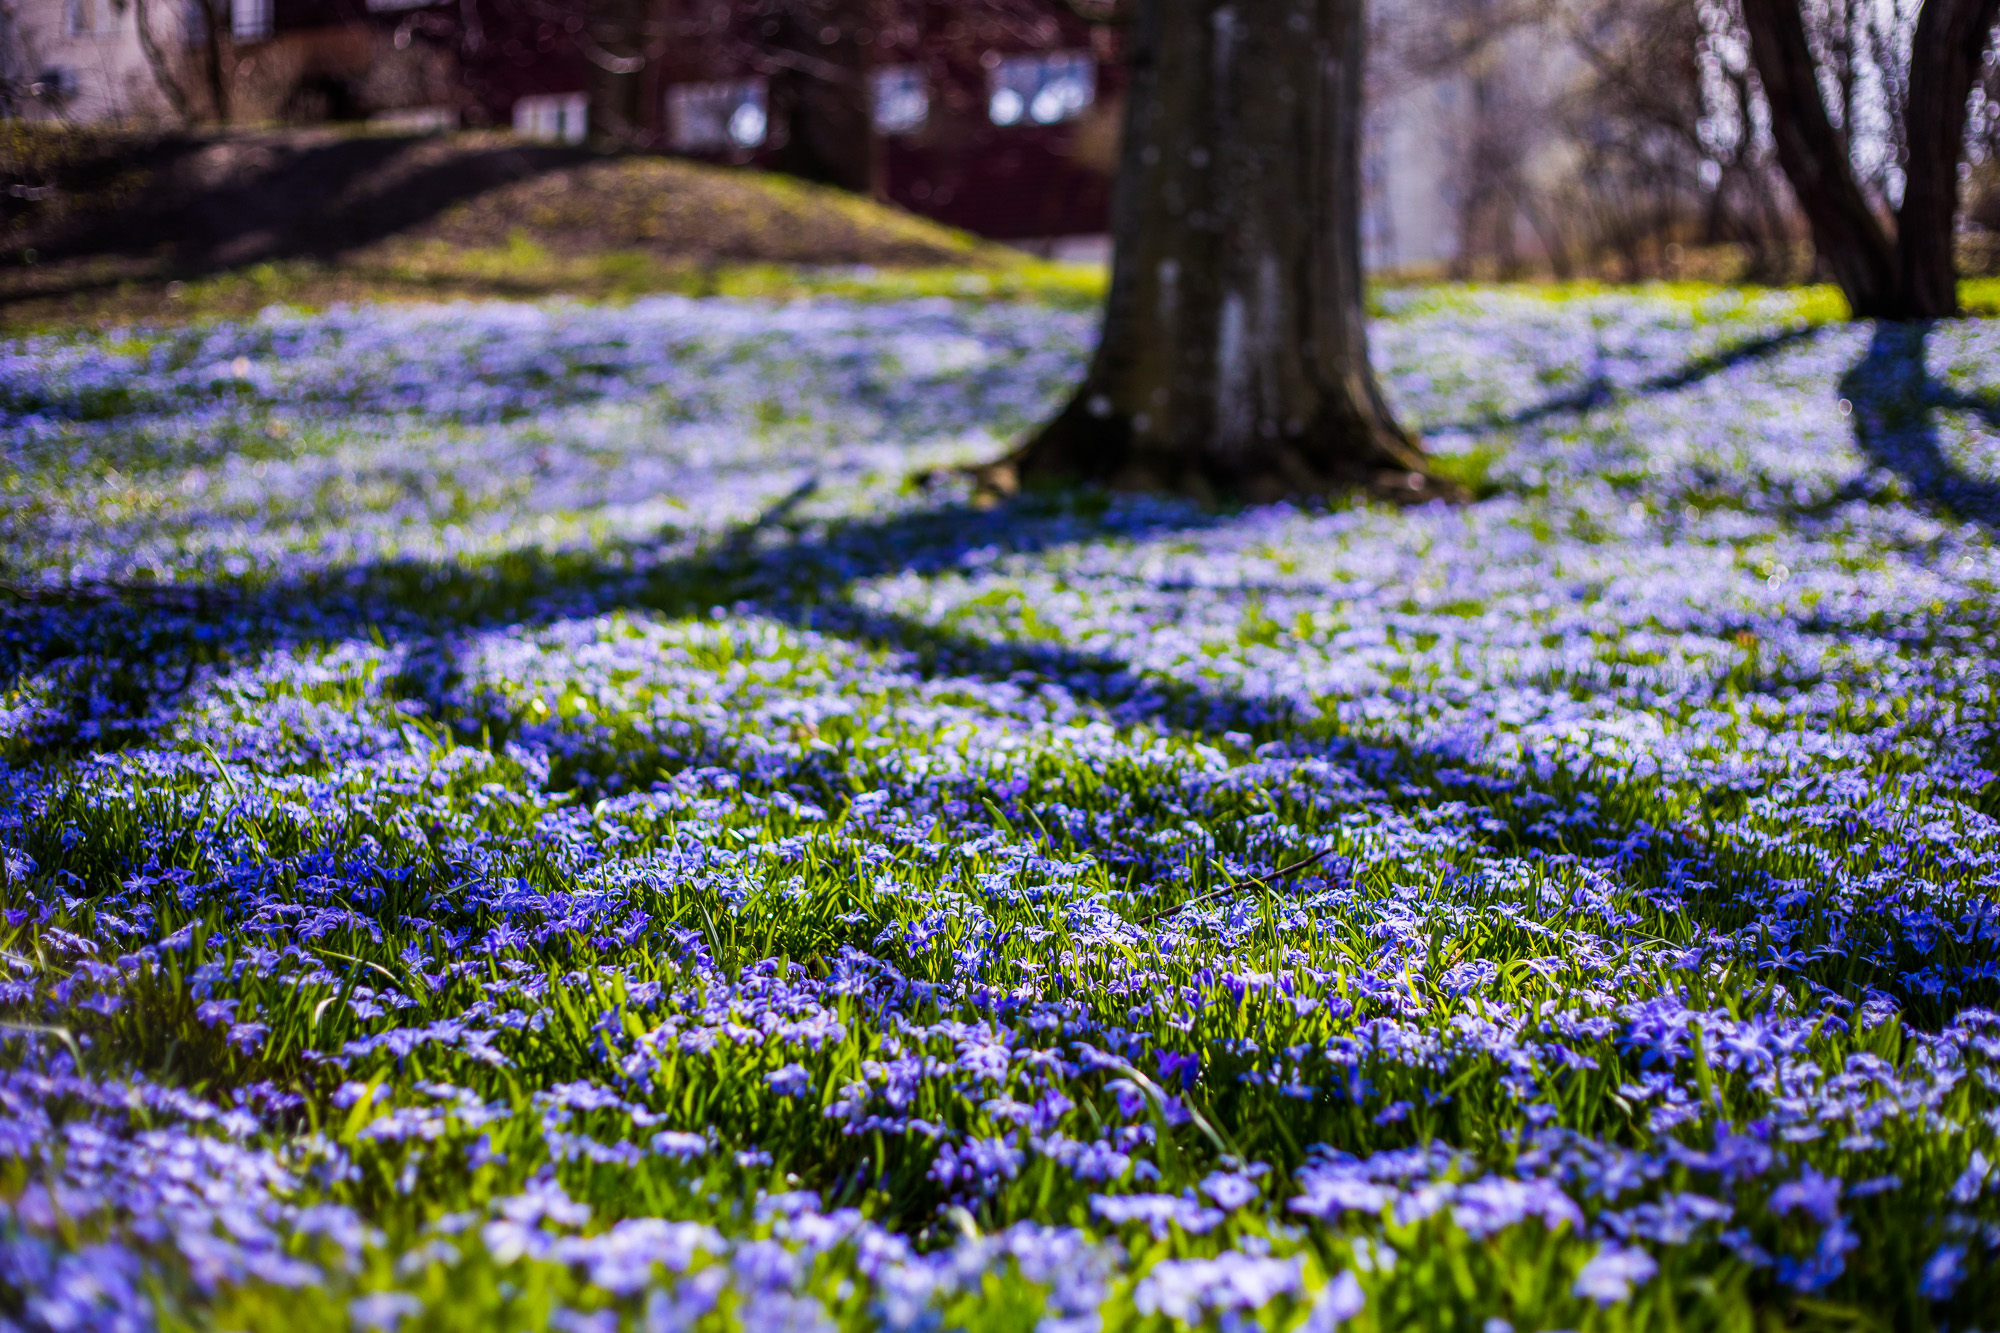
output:
{"label": "long forked shadow across the flowers in front of the thick trunk", "polygon": [[[1414,809],[1430,799],[1462,801],[1498,855],[1614,857],[1636,883],[1680,873],[1718,885],[1690,909],[1704,927],[1736,929],[1758,911],[1758,885],[1772,871],[1764,853],[1716,847],[1676,815],[1676,793],[1602,771],[1558,769],[1518,773],[1446,747],[1372,733],[1346,733],[1330,715],[1302,713],[1286,699],[1258,697],[1222,685],[1168,681],[1130,660],[1062,642],[994,640],[916,616],[862,604],[856,584],[896,572],[940,574],[982,566],[990,554],[1030,554],[1072,542],[1170,538],[1216,522],[1192,508],[1110,508],[1092,502],[1022,498],[980,510],[936,504],[878,520],[824,526],[796,522],[800,488],[704,550],[644,560],[644,544],[550,554],[510,550],[478,564],[376,562],[334,568],[260,588],[208,588],[206,602],[134,604],[104,596],[96,602],[42,606],[26,628],[6,634],[6,666],[62,677],[70,715],[48,729],[40,745],[18,751],[14,763],[62,765],[66,759],[144,747],[172,723],[180,695],[200,679],[204,662],[244,664],[288,646],[380,636],[402,650],[390,691],[422,707],[432,721],[478,745],[490,725],[490,745],[522,725],[512,709],[468,687],[464,666],[472,638],[486,630],[538,626],[612,612],[692,618],[722,608],[726,616],[758,616],[902,654],[924,677],[968,681],[1054,683],[1080,701],[1102,707],[1118,725],[1156,727],[1224,745],[1280,741],[1308,749],[1340,747],[1342,763],[1378,785],[1392,805]],[[640,556],[634,568],[630,560]],[[966,560],[966,556],[976,556]],[[0,622],[4,624],[4,622]],[[40,628],[36,628],[40,626]],[[64,673],[68,673],[64,677]],[[1232,739],[1232,733],[1234,739]],[[254,759],[254,757],[244,757]],[[610,763],[634,783],[668,777],[702,763],[694,755],[570,755],[558,785],[572,785],[590,765]],[[558,765],[560,767],[560,765]],[[800,775],[804,777],[804,775]],[[838,777],[838,775],[834,775]],[[1552,829],[1550,809],[1594,811],[1588,827]],[[1026,807],[1024,807],[1026,809]],[[1028,811],[1032,813],[1032,811]],[[1712,813],[1732,815],[1732,809]],[[1024,821],[1028,827],[1034,821]],[[1088,849],[1086,849],[1088,851]],[[1172,867],[1144,865],[1144,875]],[[1180,885],[1194,895],[1194,887]],[[1180,897],[1148,907],[1174,907]],[[1846,967],[1828,961],[1826,969]],[[1870,965],[1874,985],[1896,985],[1902,971],[1922,967],[1898,959],[1894,969]],[[1846,977],[1842,973],[1842,977]],[[1826,985],[1842,977],[1828,973]],[[1908,997],[1912,1017],[1928,1021],[1962,1001]],[[1918,1015],[1918,1009],[1924,1013]],[[1936,1013],[1934,1013],[1936,1011]]]}

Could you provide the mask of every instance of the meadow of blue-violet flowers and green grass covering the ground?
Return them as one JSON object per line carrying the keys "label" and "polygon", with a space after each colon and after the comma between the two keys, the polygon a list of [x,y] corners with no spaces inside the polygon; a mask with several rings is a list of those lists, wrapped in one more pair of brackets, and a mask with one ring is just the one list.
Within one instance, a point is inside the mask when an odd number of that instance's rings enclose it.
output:
{"label": "meadow of blue-violet flowers and green grass covering the ground", "polygon": [[2000,1323],[2000,326],[1406,294],[1474,504],[910,484],[1088,340],[0,348],[0,1327]]}

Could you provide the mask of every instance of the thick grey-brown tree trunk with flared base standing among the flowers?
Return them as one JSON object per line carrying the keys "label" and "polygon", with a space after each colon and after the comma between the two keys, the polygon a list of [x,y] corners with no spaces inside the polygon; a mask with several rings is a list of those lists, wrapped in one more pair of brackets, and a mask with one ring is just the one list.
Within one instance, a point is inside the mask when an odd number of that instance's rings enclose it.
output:
{"label": "thick grey-brown tree trunk with flared base standing among the flowers", "polygon": [[1130,58],[1102,342],[988,480],[1452,492],[1368,368],[1362,0],[1146,0]]}

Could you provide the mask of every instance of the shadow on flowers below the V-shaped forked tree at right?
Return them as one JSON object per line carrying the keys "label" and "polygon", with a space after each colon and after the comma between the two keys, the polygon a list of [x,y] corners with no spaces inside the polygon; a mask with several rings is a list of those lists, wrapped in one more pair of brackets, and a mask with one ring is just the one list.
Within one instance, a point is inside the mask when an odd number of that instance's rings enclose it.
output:
{"label": "shadow on flowers below the V-shaped forked tree at right", "polygon": [[1970,412],[2000,432],[2000,400],[1932,378],[1924,350],[1936,322],[1878,320],[1868,352],[1840,376],[1854,408],[1854,442],[1922,500],[1958,518],[2000,526],[2000,482],[1966,474],[1944,452],[1938,412]]}

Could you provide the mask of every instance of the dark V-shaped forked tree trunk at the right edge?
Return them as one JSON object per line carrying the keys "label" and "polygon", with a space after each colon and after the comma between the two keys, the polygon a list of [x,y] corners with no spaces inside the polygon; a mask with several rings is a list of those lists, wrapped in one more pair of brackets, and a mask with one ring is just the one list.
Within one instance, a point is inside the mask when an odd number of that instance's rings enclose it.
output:
{"label": "dark V-shaped forked tree trunk at the right edge", "polygon": [[1778,164],[1812,228],[1812,248],[1846,292],[1854,318],[1958,314],[1952,222],[1966,100],[2000,0],[1926,0],[1904,108],[1904,196],[1894,236],[1870,206],[1846,134],[1834,128],[1798,0],[1742,0],[1750,58],[1770,104]]}

